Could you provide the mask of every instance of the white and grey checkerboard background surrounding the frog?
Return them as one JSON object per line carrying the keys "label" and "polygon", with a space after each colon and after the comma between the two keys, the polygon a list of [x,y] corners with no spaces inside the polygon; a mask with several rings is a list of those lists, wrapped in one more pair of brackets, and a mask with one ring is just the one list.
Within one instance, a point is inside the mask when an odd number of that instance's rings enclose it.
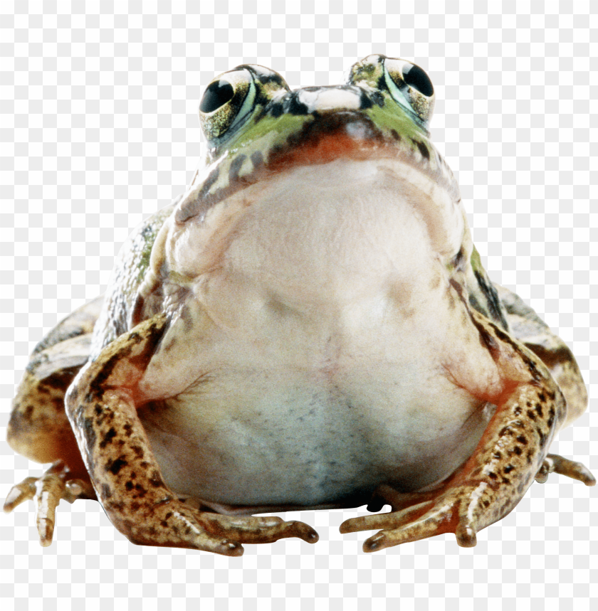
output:
{"label": "white and grey checkerboard background surrounding the frog", "polygon": [[[203,87],[239,63],[291,87],[340,83],[372,52],[429,70],[432,136],[488,271],[568,342],[589,385],[589,413],[553,450],[598,472],[598,20],[584,1],[488,5],[1,1],[2,494],[41,472],[4,442],[27,355],[105,289],[130,229],[189,182]],[[473,549],[446,535],[364,554],[367,533],[337,531],[363,508],[287,514],[320,542],[232,559],[133,546],[92,501],[61,504],[44,549],[26,504],[0,516],[0,607],[596,609],[597,498],[552,476]]]}

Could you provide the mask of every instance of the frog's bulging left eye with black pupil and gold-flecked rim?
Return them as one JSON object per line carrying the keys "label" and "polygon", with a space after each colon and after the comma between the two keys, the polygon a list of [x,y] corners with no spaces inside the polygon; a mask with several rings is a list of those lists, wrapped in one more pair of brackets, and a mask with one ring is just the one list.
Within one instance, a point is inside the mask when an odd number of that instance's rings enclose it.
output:
{"label": "frog's bulging left eye with black pupil and gold-flecked rim", "polygon": [[234,133],[280,90],[288,91],[283,78],[259,65],[240,65],[216,77],[199,102],[199,122],[206,138],[218,140]]}

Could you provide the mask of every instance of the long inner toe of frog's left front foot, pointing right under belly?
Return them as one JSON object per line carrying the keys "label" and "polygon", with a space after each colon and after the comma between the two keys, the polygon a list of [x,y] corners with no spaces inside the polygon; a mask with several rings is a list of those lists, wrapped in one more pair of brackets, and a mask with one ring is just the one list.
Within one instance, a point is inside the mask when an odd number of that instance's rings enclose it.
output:
{"label": "long inner toe of frog's left front foot, pointing right under belly", "polygon": [[276,516],[224,516],[221,514],[201,514],[201,522],[206,530],[226,536],[241,543],[273,543],[281,538],[298,537],[308,543],[316,543],[318,533],[299,521],[285,522]]}

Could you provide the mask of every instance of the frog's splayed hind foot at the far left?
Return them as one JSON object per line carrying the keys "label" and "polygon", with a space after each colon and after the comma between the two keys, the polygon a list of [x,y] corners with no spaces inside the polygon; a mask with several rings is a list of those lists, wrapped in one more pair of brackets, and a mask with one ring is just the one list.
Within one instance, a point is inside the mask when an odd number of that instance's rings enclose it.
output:
{"label": "frog's splayed hind foot at the far left", "polygon": [[80,479],[65,479],[68,469],[62,461],[55,462],[41,477],[26,477],[12,487],[4,501],[4,511],[9,513],[24,501],[36,502],[36,526],[39,542],[43,547],[52,543],[56,524],[56,507],[62,499],[73,503],[79,498],[93,498],[90,484]]}

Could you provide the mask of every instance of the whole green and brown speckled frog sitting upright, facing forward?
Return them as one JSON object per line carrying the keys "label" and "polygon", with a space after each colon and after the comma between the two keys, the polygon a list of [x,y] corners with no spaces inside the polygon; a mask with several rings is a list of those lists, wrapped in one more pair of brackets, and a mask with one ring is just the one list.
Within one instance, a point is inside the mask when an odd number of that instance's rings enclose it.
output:
{"label": "whole green and brown speckled frog sitting upright, facing forward", "polygon": [[593,486],[549,452],[587,409],[579,366],[489,279],[434,102],[382,54],[342,85],[214,78],[187,190],[33,350],[8,442],[51,466],[5,511],[33,499],[47,546],[61,500],[97,499],[132,543],[241,556],[318,541],[260,514],[367,505],[340,531],[377,531],[373,552],[475,546],[551,472]]}

